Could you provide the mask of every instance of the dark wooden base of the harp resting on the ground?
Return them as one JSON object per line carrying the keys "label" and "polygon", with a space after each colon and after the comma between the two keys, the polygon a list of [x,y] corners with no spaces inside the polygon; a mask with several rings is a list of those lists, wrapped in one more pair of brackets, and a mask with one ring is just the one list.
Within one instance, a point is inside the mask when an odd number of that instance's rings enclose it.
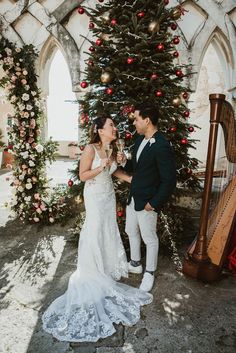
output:
{"label": "dark wooden base of the harp resting on the ground", "polygon": [[221,268],[210,260],[197,261],[187,255],[183,262],[183,273],[203,282],[213,282],[220,279]]}

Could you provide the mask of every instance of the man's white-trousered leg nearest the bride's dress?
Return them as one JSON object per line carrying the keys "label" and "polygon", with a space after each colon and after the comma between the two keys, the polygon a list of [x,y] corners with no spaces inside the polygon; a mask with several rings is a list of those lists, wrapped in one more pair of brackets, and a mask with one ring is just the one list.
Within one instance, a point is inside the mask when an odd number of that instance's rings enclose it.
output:
{"label": "man's white-trousered leg nearest the bride's dress", "polygon": [[141,259],[141,237],[138,226],[138,218],[134,209],[134,201],[126,207],[126,224],[125,231],[129,237],[130,257],[133,261],[140,261]]}

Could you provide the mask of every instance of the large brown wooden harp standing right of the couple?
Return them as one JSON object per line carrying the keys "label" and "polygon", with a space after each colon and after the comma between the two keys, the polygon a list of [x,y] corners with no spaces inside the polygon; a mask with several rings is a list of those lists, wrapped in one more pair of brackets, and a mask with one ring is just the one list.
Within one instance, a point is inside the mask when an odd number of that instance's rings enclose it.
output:
{"label": "large brown wooden harp standing right of the couple", "polygon": [[[220,277],[229,253],[232,238],[236,237],[236,124],[234,111],[223,94],[210,94],[210,133],[205,182],[200,213],[199,233],[190,245],[183,262],[183,273],[211,282]],[[217,203],[210,210],[219,124],[223,130],[227,163],[230,165],[227,182],[219,193]],[[221,173],[225,177],[225,171]],[[219,175],[218,175],[219,176]],[[235,242],[235,239],[234,239]]]}

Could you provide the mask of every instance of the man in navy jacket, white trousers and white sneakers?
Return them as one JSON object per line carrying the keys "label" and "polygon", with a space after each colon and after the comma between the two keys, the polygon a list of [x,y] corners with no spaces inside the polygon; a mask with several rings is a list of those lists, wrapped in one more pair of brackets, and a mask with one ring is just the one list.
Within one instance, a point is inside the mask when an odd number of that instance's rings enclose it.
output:
{"label": "man in navy jacket, white trousers and white sneakers", "polygon": [[153,287],[157,267],[157,213],[175,188],[176,166],[169,142],[157,129],[157,107],[140,104],[135,107],[134,117],[134,125],[141,136],[135,142],[132,160],[118,153],[117,162],[133,175],[125,228],[131,250],[129,272],[142,273],[142,238],[146,245],[146,269],[139,288],[148,292]]}

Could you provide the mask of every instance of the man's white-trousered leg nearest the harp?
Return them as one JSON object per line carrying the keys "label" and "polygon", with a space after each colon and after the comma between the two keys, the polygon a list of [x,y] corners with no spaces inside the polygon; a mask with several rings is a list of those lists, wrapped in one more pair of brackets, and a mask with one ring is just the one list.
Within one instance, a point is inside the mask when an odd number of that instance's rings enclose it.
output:
{"label": "man's white-trousered leg nearest the harp", "polygon": [[141,236],[146,245],[146,271],[153,272],[157,268],[159,240],[156,233],[157,213],[154,211],[137,212]]}

